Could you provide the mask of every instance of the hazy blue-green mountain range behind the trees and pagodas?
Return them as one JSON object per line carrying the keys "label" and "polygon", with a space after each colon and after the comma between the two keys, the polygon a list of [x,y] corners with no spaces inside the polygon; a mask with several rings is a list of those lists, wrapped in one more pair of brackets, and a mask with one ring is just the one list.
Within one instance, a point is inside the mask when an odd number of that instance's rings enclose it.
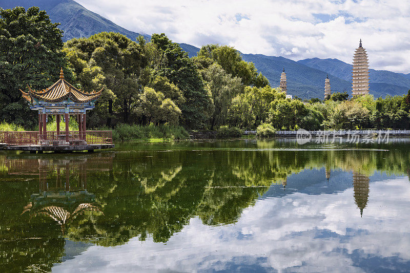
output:
{"label": "hazy blue-green mountain range behind the trees and pagodas", "polygon": [[[64,31],[64,41],[71,38],[89,37],[101,31],[114,31],[135,40],[138,35],[150,39],[143,32],[133,32],[122,28],[107,18],[100,16],[73,0],[0,0],[4,9],[23,6],[37,6],[46,10],[53,23],[60,23]],[[180,44],[189,56],[195,56],[199,48]],[[353,59],[352,49],[352,59]],[[241,53],[242,54],[242,53]],[[284,57],[266,56],[262,54],[242,54],[246,61],[252,61],[258,71],[265,75],[272,87],[279,86],[280,74],[283,68],[288,79],[288,94],[300,98],[322,98],[324,95],[324,80],[329,75],[332,92],[351,93],[352,65],[338,59],[303,59],[294,61]],[[370,62],[372,60],[370,59]],[[386,70],[370,70],[370,93],[375,97],[386,95],[403,95],[410,88],[410,74],[395,73]]]}

